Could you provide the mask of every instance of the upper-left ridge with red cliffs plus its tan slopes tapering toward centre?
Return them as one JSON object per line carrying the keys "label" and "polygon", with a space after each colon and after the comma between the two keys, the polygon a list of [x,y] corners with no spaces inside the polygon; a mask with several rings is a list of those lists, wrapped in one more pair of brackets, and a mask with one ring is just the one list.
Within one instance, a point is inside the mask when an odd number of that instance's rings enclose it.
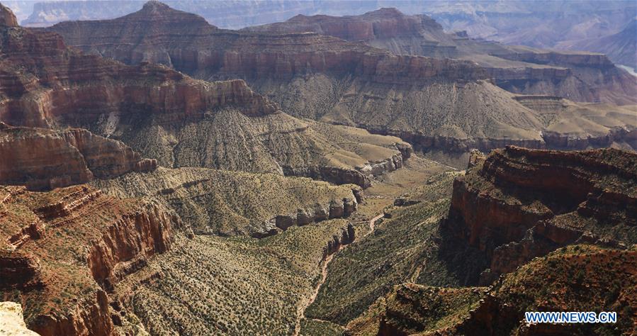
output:
{"label": "upper-left ridge with red cliffs plus its tan slopes tapering toward centre", "polygon": [[[157,22],[180,26],[173,23],[181,16],[198,18],[162,13],[132,14],[146,24],[123,28],[159,34]],[[198,26],[179,33],[215,30],[203,19],[194,22]],[[410,155],[397,138],[288,116],[242,80],[203,82],[158,65],[130,67],[71,50],[55,33],[2,29],[0,121],[10,125],[87,128],[167,167],[274,172],[360,186],[368,186],[371,175],[400,168]]]}

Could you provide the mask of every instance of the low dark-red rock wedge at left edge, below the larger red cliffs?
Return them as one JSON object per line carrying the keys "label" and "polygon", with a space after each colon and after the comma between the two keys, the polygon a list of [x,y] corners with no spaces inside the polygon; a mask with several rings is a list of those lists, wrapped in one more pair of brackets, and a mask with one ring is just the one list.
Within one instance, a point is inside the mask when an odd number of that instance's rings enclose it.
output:
{"label": "low dark-red rock wedge at left edge, below the larger red cliffs", "polygon": [[123,143],[87,130],[53,131],[0,123],[1,184],[53,189],[126,172],[149,172],[154,159],[142,159]]}

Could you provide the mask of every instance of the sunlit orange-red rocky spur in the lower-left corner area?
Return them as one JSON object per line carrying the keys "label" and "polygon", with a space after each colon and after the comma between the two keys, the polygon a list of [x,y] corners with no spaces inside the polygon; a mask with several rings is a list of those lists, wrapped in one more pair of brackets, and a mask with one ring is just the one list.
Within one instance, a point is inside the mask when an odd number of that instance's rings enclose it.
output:
{"label": "sunlit orange-red rocky spur in the lower-left corner area", "polygon": [[[0,190],[0,286],[28,303],[26,323],[40,335],[111,335],[107,291],[166,252],[181,227],[162,206],[111,198],[88,186]],[[40,226],[34,232],[25,223]]]}

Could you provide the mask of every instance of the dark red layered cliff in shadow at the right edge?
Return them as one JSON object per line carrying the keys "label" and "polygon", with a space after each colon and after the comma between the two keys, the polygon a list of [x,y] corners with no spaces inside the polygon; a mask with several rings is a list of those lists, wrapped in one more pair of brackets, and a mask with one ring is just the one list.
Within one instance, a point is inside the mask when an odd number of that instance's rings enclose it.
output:
{"label": "dark red layered cliff in shadow at the right edge", "polygon": [[561,246],[634,243],[634,153],[508,146],[471,161],[474,167],[453,183],[442,228],[485,255],[485,283]]}

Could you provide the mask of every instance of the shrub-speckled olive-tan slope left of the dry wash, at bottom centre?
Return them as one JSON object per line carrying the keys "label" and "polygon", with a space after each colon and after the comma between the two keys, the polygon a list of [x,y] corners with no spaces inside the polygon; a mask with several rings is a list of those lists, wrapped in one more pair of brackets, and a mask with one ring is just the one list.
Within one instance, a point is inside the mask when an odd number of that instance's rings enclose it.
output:
{"label": "shrub-speckled olive-tan slope left of the dry wash, at bottom centre", "polygon": [[153,335],[290,335],[327,255],[354,240],[344,220],[291,228],[262,240],[198,236],[120,286]]}

